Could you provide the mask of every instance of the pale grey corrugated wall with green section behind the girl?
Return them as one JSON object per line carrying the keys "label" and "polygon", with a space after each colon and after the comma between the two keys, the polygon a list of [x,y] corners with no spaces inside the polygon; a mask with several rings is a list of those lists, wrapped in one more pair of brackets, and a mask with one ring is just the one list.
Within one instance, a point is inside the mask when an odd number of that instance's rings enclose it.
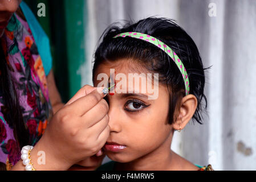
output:
{"label": "pale grey corrugated wall with green section behind the girl", "polygon": [[[151,15],[176,19],[200,50],[208,114],[175,133],[172,149],[217,170],[256,170],[255,0],[27,0],[50,36],[54,72],[64,102],[92,85],[92,54],[113,22]],[[214,11],[215,10],[215,11]],[[216,13],[216,14],[215,14]],[[104,162],[107,162],[107,158]]]}

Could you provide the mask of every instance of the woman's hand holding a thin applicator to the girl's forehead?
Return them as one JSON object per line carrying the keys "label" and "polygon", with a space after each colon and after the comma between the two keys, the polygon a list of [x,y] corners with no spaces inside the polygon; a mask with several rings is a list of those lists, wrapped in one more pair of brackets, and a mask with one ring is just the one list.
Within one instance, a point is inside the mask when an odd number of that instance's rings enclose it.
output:
{"label": "woman's hand holding a thin applicator to the girl's forehead", "polygon": [[[104,146],[109,136],[109,108],[103,99],[105,95],[98,90],[84,86],[54,115],[31,151],[36,169],[66,170],[73,164],[88,160]],[[38,151],[46,154],[44,166],[36,161]]]}

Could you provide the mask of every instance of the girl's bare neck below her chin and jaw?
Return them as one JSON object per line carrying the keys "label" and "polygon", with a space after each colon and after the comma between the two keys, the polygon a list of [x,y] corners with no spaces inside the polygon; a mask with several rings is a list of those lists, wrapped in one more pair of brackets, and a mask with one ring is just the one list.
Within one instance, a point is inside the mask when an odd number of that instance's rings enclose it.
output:
{"label": "girl's bare neck below her chin and jaw", "polygon": [[174,152],[170,150],[173,133],[156,150],[128,163],[116,163],[115,169],[124,171],[165,171],[173,168]]}

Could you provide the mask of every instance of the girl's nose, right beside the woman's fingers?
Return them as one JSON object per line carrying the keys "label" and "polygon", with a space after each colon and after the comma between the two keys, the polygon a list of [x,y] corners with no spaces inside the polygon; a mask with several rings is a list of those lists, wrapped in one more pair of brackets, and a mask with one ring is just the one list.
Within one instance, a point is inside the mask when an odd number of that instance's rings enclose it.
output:
{"label": "girl's nose, right beside the woman's fingers", "polygon": [[110,133],[119,133],[121,131],[121,112],[118,107],[109,106],[108,110]]}

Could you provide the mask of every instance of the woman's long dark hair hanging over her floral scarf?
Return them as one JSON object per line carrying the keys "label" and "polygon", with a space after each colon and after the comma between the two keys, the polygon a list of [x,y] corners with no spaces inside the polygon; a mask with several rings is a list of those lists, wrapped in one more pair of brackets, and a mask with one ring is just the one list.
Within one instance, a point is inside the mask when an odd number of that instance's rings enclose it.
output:
{"label": "woman's long dark hair hanging over her floral scarf", "polygon": [[21,150],[23,146],[29,144],[29,131],[26,129],[22,109],[19,105],[19,96],[15,89],[16,82],[11,75],[9,62],[6,59],[7,55],[4,51],[9,50],[11,45],[7,45],[4,37],[0,39],[0,43],[0,97],[3,101],[1,110],[5,113],[4,116],[9,127],[13,128],[14,137]]}

